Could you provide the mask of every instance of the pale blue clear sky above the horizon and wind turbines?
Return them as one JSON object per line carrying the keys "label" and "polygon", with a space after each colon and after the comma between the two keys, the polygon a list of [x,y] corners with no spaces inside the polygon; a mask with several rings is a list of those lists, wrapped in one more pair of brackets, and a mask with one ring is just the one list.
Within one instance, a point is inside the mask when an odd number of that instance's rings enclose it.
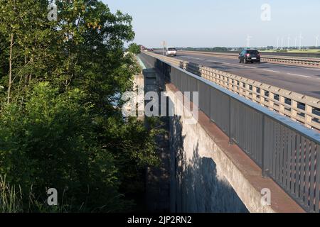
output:
{"label": "pale blue clear sky above the horizon and wind turbines", "polygon": [[176,47],[299,46],[300,33],[304,46],[320,35],[319,0],[102,1],[132,16],[134,42],[148,48],[163,40]]}

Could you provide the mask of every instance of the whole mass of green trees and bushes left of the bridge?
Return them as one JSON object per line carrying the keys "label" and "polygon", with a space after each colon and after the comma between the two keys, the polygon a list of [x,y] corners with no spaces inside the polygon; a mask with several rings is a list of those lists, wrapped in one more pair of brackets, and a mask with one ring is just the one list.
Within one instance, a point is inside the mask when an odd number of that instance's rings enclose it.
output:
{"label": "whole mass of green trees and bushes left of the bridge", "polygon": [[[157,130],[121,112],[119,99],[140,72],[123,52],[132,18],[101,1],[55,2],[58,21],[48,21],[47,1],[0,0],[0,189],[12,198],[4,201],[17,204],[11,211],[133,209],[130,186],[142,192],[142,172],[158,159]],[[46,205],[50,187],[58,207]]]}

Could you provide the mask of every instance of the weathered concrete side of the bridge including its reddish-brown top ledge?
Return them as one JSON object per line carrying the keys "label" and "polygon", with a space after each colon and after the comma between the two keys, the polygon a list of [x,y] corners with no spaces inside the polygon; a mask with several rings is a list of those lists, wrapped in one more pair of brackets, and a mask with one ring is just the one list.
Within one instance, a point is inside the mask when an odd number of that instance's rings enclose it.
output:
{"label": "weathered concrete side of the bridge including its reddish-brown top ledge", "polygon": [[[176,104],[176,87],[166,84],[166,91]],[[169,123],[172,212],[304,212],[205,114],[194,125],[185,121],[175,116]],[[264,188],[271,206],[262,206]]]}

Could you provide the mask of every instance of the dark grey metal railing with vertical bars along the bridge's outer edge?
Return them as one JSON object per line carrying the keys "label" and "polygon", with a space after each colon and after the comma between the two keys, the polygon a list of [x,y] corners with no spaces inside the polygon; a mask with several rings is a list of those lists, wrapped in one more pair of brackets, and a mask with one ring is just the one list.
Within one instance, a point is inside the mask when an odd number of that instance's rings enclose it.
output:
{"label": "dark grey metal railing with vertical bars along the bridge's outer edge", "polygon": [[[306,211],[319,213],[320,134],[230,92],[161,56],[142,54]],[[192,97],[191,97],[191,101]]]}

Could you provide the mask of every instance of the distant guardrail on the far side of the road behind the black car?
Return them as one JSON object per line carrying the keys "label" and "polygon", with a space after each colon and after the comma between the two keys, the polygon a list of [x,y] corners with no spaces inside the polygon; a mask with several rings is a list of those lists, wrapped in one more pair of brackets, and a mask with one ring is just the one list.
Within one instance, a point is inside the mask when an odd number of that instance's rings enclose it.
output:
{"label": "distant guardrail on the far side of the road behind the black car", "polygon": [[[180,52],[188,52],[188,53],[198,53],[201,55],[210,55],[217,57],[227,57],[227,58],[238,58],[238,54],[233,53],[223,53],[223,52],[202,52],[202,51],[188,51],[183,50]],[[265,62],[274,62],[283,65],[301,65],[306,67],[320,67],[320,59],[319,58],[306,58],[306,57],[284,57],[284,56],[274,56],[274,55],[263,55],[261,56],[261,60]]]}

